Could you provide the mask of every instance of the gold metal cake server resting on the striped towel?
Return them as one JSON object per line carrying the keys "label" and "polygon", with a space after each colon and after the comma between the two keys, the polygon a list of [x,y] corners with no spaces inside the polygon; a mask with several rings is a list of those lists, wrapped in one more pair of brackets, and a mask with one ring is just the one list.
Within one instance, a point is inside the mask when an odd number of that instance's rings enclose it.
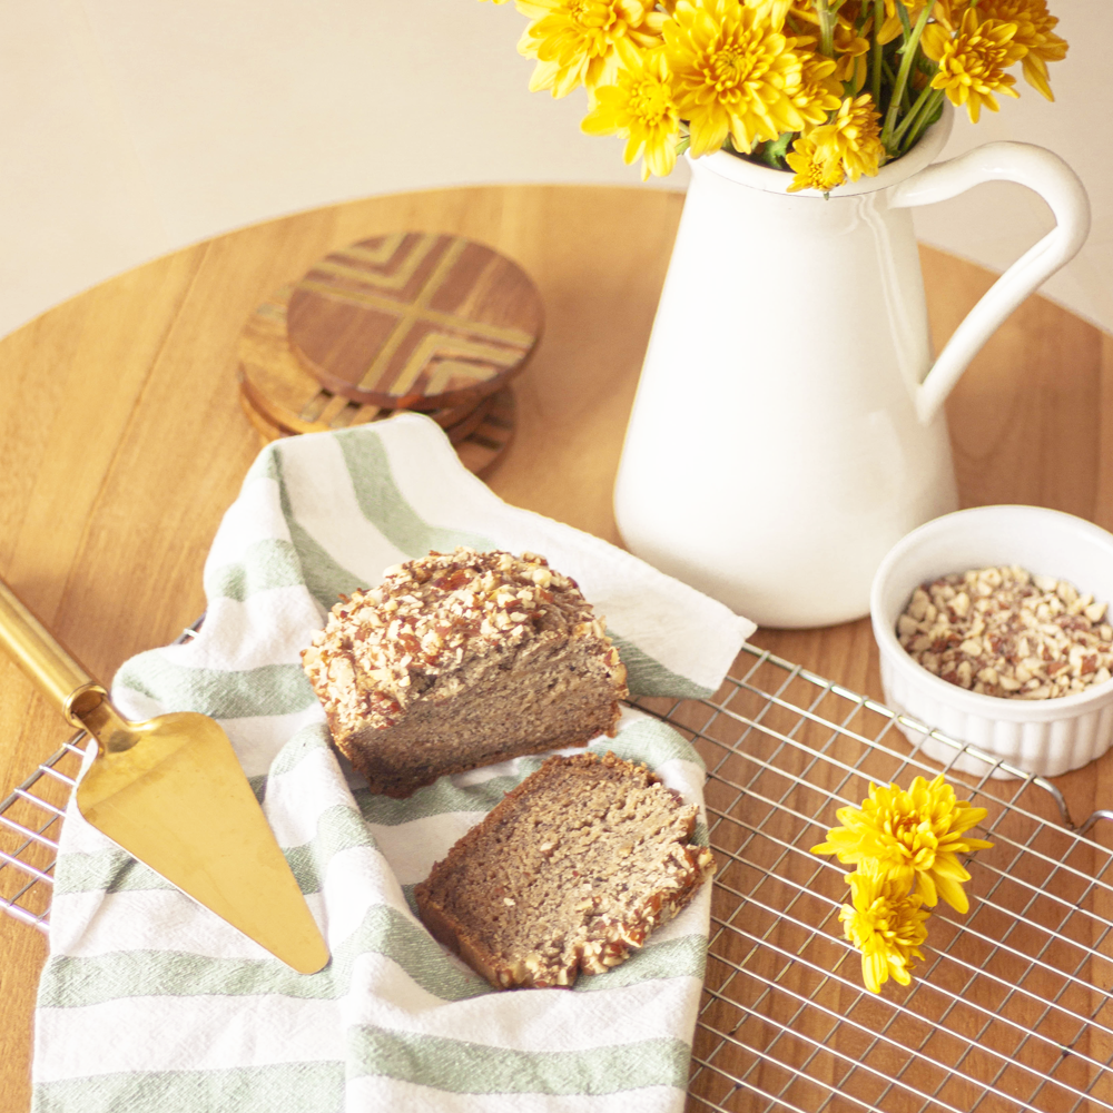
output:
{"label": "gold metal cake server resting on the striped towel", "polygon": [[97,740],[81,815],[187,896],[302,974],[328,948],[228,736],[207,716],[125,719],[0,580],[0,648]]}

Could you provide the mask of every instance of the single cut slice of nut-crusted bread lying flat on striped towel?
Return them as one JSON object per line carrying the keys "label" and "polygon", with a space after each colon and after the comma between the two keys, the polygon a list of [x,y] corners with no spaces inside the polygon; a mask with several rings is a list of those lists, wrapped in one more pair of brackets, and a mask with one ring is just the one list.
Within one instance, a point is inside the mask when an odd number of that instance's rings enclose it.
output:
{"label": "single cut slice of nut-crusted bread lying flat on striped towel", "polygon": [[569,986],[629,957],[715,873],[695,824],[643,765],[549,758],[416,886],[418,913],[496,988]]}

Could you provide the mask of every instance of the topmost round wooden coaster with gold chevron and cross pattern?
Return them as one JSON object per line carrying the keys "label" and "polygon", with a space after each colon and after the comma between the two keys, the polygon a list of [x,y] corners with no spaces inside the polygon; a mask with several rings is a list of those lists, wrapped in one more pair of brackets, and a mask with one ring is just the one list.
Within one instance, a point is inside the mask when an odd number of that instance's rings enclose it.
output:
{"label": "topmost round wooden coaster with gold chevron and cross pattern", "polygon": [[294,287],[290,349],[361,405],[474,404],[525,366],[541,297],[518,264],[460,236],[400,232],[333,252]]}

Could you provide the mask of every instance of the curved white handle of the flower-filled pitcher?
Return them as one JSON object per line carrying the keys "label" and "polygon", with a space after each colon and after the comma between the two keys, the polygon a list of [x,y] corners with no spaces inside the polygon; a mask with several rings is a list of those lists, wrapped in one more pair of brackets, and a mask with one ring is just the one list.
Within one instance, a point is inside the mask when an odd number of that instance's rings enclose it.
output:
{"label": "curved white handle of the flower-filled pitcher", "polygon": [[1090,198],[1077,175],[1057,155],[1032,144],[991,142],[935,162],[894,187],[889,205],[930,205],[995,180],[1017,181],[1034,189],[1051,207],[1055,227],[985,292],[947,341],[916,394],[916,413],[924,424],[936,415],[967,364],[1005,317],[1077,255],[1090,230]]}

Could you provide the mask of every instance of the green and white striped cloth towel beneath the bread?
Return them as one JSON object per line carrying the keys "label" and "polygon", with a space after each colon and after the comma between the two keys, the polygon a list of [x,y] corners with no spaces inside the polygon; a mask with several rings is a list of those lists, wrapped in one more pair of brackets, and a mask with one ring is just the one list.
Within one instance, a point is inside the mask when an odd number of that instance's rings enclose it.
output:
{"label": "green and white striped cloth towel beneath the bread", "polygon": [[[298,975],[71,808],[36,1014],[36,1113],[609,1113],[682,1106],[710,893],[572,991],[494,992],[411,910],[434,860],[540,765],[373,796],[328,746],[299,651],[341,592],[456,544],[532,550],[605,614],[638,692],[718,687],[752,624],[628,553],[508,506],[424,417],[268,446],[205,567],[200,634],[128,661],[125,713],[217,718],[322,925]],[[690,800],[703,769],[629,712],[613,749]]]}

